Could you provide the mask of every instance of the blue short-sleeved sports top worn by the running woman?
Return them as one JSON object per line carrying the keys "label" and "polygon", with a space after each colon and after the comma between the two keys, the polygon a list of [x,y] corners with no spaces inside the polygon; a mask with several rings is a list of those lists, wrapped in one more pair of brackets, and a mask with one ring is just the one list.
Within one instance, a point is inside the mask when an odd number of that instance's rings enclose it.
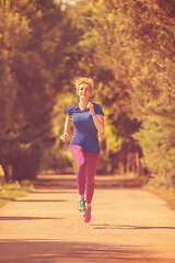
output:
{"label": "blue short-sleeved sports top worn by the running woman", "polygon": [[[94,112],[104,115],[100,104],[93,103]],[[70,105],[67,110],[68,116],[73,123],[73,136],[70,147],[81,146],[86,152],[100,152],[98,133],[95,127],[90,108],[80,110],[79,104]]]}

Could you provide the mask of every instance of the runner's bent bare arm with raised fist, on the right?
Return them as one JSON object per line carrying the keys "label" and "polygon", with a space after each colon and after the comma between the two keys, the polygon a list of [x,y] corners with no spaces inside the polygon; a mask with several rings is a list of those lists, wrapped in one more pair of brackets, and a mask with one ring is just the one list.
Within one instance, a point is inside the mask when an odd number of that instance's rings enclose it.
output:
{"label": "runner's bent bare arm with raised fist, on the right", "polygon": [[93,117],[93,121],[94,121],[94,124],[95,124],[97,130],[101,134],[103,134],[105,132],[104,116],[95,114],[94,105],[91,102],[89,102],[88,107],[90,108],[90,113]]}

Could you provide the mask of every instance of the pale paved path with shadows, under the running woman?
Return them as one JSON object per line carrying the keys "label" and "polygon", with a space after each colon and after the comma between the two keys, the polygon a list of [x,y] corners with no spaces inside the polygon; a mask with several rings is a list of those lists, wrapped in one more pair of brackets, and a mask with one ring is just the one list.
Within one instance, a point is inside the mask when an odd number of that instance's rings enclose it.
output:
{"label": "pale paved path with shadows, under the running woman", "polygon": [[2,207],[0,262],[174,263],[175,211],[151,193],[105,180],[97,179],[90,224],[77,211],[75,179],[69,175],[45,180]]}

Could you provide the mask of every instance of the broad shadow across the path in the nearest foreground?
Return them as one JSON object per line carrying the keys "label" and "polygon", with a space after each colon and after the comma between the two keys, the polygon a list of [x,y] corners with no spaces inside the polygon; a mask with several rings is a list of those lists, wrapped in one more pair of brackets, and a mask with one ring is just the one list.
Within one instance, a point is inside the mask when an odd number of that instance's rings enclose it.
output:
{"label": "broad shadow across the path in the nearest foreground", "polygon": [[[3,255],[13,255],[11,261],[5,256],[0,259],[3,263],[84,263],[84,262],[115,262],[115,263],[173,263],[171,259],[149,258],[148,253],[138,247],[131,245],[102,245],[85,242],[58,242],[56,240],[0,240],[0,250]],[[21,251],[20,261],[16,251]]]}

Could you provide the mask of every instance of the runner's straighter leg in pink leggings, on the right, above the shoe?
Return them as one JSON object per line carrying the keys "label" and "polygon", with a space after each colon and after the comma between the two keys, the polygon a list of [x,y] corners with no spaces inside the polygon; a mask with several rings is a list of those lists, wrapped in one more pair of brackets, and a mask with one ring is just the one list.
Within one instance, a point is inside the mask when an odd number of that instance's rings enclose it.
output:
{"label": "runner's straighter leg in pink leggings, on the right, above the shoe", "polygon": [[95,185],[95,174],[97,164],[100,161],[100,152],[86,152],[85,153],[86,161],[86,205],[91,207],[92,197],[94,194],[94,185]]}

